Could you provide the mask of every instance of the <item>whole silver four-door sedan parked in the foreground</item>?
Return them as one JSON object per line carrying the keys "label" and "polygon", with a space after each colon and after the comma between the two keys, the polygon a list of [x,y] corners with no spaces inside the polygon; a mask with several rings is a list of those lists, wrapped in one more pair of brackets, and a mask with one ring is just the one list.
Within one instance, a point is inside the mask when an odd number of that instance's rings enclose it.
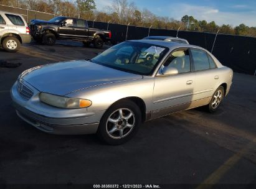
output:
{"label": "whole silver four-door sedan parked in the foreground", "polygon": [[[150,53],[151,58],[143,55]],[[133,137],[141,122],[206,106],[215,112],[233,71],[201,47],[131,40],[92,60],[34,67],[11,89],[17,115],[50,134],[94,134],[108,144]]]}

